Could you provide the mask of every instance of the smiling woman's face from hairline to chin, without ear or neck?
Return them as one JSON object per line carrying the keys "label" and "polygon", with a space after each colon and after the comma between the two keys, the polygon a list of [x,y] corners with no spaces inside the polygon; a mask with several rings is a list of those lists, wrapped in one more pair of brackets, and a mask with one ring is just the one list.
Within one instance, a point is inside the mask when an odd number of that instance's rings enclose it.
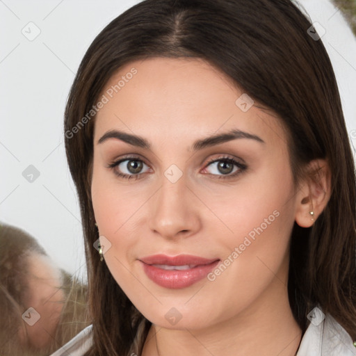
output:
{"label": "smiling woman's face from hairline to chin, without ear or neck", "polygon": [[196,58],[129,63],[99,99],[92,204],[133,305],[197,329],[286,296],[297,202],[280,121]]}

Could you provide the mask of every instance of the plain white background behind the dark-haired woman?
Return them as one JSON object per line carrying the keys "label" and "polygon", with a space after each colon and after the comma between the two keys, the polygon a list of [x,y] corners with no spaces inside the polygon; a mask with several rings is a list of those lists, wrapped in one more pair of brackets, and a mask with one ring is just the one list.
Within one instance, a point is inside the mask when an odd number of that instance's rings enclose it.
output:
{"label": "plain white background behind the dark-haired woman", "polygon": [[[84,276],[85,259],[63,144],[65,101],[92,40],[138,2],[0,0],[0,222],[29,232],[58,266],[76,275]],[[329,1],[301,3],[312,22],[326,30],[322,40],[337,74],[355,147],[356,39]],[[22,34],[34,35],[37,28],[40,34],[32,41]],[[40,172],[32,183],[22,175],[29,165]]]}

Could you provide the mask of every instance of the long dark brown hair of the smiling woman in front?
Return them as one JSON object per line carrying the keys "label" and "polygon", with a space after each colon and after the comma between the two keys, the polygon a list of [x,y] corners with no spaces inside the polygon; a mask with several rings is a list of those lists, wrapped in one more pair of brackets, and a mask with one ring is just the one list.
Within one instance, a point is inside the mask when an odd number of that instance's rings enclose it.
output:
{"label": "long dark brown hair of the smiling woman in front", "polygon": [[332,64],[322,41],[307,33],[310,26],[291,0],[145,0],[113,19],[92,42],[72,84],[64,122],[93,321],[94,344],[86,356],[140,355],[152,323],[93,248],[98,238],[90,195],[95,115],[78,124],[120,67],[154,57],[205,60],[275,113],[289,136],[296,188],[309,162],[327,159],[330,200],[312,227],[295,223],[291,234],[289,303],[303,333],[307,314],[319,305],[356,339],[355,163]]}

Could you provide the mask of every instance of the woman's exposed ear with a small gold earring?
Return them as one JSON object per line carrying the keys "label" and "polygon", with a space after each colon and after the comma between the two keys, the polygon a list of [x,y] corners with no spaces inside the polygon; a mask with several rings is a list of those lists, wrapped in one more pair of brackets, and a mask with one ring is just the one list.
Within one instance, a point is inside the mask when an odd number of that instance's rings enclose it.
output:
{"label": "woman's exposed ear with a small gold earring", "polygon": [[296,199],[296,223],[311,227],[323,212],[331,195],[331,172],[324,159],[309,162]]}

